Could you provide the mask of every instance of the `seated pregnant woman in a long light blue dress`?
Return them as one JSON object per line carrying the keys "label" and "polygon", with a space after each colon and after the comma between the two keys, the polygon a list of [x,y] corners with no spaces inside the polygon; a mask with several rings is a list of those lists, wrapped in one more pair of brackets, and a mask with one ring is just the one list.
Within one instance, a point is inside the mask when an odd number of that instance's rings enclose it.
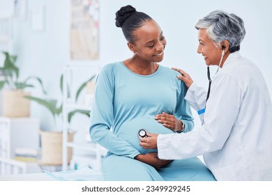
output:
{"label": "seated pregnant woman in a long light blue dress", "polygon": [[[184,100],[183,81],[174,70],[158,64],[163,61],[166,40],[155,20],[124,6],[116,12],[116,26],[121,27],[133,56],[105,65],[96,81],[90,136],[108,150],[103,179],[215,180],[197,157],[162,160],[157,150],[139,146],[140,129],[186,133],[192,130],[193,118]],[[174,116],[171,124],[155,120],[162,112]]]}

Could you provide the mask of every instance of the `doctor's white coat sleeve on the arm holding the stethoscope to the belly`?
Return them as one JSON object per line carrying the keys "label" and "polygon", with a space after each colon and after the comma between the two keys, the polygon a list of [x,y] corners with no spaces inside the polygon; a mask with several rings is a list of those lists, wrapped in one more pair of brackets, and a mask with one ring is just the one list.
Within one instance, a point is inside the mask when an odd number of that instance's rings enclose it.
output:
{"label": "doctor's white coat sleeve on the arm holding the stethoscope to the belly", "polygon": [[241,86],[226,74],[214,79],[206,103],[205,124],[184,134],[159,134],[158,157],[183,159],[220,150],[232,130],[243,99]]}

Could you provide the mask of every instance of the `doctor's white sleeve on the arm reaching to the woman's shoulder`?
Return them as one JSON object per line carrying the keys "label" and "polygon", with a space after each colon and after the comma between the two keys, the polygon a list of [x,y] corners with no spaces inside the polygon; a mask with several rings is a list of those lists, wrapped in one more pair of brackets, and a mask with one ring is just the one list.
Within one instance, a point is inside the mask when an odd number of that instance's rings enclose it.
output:
{"label": "doctor's white sleeve on the arm reaching to the woman's shoulder", "polygon": [[188,102],[188,104],[190,104],[190,106],[197,111],[201,123],[204,123],[206,96],[206,90],[200,86],[197,86],[195,82],[193,82],[190,88],[188,88],[185,96],[185,100]]}

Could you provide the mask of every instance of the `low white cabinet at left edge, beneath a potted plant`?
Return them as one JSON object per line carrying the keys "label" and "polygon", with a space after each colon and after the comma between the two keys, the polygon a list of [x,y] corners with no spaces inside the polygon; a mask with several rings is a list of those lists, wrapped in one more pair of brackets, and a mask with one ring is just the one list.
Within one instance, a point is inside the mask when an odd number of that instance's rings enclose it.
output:
{"label": "low white cabinet at left edge, beneath a potted plant", "polygon": [[39,129],[38,118],[0,117],[0,175],[27,173],[31,164],[14,160],[15,150],[38,151]]}

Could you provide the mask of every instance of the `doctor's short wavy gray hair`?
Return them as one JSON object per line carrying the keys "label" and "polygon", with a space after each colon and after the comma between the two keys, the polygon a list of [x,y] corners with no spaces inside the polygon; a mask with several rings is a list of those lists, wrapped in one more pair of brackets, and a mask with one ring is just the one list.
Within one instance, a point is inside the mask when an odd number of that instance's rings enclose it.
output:
{"label": "doctor's short wavy gray hair", "polygon": [[245,37],[245,26],[241,17],[231,13],[216,10],[200,19],[195,28],[206,29],[208,36],[216,45],[223,40],[229,41],[229,52],[240,50],[240,44]]}

